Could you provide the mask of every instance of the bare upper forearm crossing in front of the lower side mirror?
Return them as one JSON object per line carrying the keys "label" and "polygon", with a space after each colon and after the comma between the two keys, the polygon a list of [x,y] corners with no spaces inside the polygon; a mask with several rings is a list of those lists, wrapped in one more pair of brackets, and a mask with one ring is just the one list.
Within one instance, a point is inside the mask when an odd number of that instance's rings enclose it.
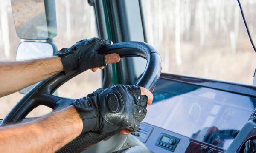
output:
{"label": "bare upper forearm crossing in front of the lower side mirror", "polygon": [[0,97],[63,71],[60,57],[0,62]]}

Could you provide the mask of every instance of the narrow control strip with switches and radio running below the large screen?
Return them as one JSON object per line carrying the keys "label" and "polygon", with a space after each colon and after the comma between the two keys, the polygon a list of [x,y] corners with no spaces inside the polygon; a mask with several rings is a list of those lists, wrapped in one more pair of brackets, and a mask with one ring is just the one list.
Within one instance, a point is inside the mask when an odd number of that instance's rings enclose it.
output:
{"label": "narrow control strip with switches and radio running below the large screen", "polygon": [[219,147],[142,122],[132,133],[154,153],[224,153]]}

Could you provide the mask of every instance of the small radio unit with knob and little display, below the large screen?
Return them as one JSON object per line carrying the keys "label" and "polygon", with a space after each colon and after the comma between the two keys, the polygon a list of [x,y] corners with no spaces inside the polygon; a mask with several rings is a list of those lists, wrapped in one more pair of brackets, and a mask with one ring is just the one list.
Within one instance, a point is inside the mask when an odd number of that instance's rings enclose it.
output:
{"label": "small radio unit with knob and little display, below the large screen", "polygon": [[170,136],[166,133],[161,133],[155,145],[173,152],[179,142],[179,138]]}

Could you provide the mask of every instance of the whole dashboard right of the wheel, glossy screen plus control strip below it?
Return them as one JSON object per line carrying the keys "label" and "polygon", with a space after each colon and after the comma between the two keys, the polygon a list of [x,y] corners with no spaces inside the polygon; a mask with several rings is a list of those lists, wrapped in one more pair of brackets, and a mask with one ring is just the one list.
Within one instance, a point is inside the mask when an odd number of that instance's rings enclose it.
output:
{"label": "whole dashboard right of the wheel, glossy screen plus control strip below it", "polygon": [[157,83],[150,110],[133,133],[152,152],[224,153],[252,117],[256,96],[189,82],[161,77]]}

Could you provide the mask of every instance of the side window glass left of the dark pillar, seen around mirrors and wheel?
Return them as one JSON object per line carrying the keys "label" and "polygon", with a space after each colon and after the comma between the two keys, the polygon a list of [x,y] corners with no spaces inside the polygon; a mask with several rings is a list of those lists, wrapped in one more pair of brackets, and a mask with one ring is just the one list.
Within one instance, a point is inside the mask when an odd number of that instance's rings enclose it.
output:
{"label": "side window glass left of the dark pillar, seen around mirrors and wheel", "polygon": [[[55,3],[58,34],[53,43],[58,50],[69,48],[79,40],[97,37],[93,7],[87,0],[55,0]],[[0,7],[0,38],[5,40],[0,42],[0,60],[15,60],[20,39],[15,32],[11,3],[5,0],[0,5],[6,6]],[[80,98],[100,87],[100,71],[93,73],[88,70],[62,85],[57,94],[62,97]],[[3,119],[22,97],[23,94],[17,92],[0,98],[0,119]],[[42,116],[51,111],[50,108],[39,106],[29,113],[28,117]]]}

